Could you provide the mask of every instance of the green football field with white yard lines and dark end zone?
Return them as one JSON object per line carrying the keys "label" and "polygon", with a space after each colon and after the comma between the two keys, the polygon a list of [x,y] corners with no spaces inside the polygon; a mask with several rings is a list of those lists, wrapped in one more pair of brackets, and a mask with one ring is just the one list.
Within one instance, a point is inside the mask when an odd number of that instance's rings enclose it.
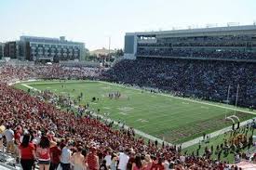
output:
{"label": "green football field with white yard lines and dark end zone", "polygon": [[[115,121],[125,121],[128,126],[174,144],[231,125],[224,117],[235,113],[235,107],[230,105],[151,93],[106,82],[41,81],[17,84],[16,87],[26,90],[24,85],[74,99],[83,93],[80,104],[88,104],[93,111],[100,109],[100,114],[108,113]],[[115,98],[117,92],[119,98]],[[110,94],[114,94],[114,98],[109,98]],[[92,101],[92,98],[96,100]],[[239,108],[236,115],[241,121],[255,117],[248,111]]]}

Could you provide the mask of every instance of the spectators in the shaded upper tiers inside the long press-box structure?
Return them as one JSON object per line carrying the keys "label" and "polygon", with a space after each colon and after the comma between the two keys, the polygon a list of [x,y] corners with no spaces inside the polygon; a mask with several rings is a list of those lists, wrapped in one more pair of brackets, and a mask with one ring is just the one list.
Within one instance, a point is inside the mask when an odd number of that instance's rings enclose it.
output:
{"label": "spectators in the shaded upper tiers inside the long press-box structure", "polygon": [[204,59],[256,59],[255,37],[250,35],[163,37],[138,44],[137,55]]}

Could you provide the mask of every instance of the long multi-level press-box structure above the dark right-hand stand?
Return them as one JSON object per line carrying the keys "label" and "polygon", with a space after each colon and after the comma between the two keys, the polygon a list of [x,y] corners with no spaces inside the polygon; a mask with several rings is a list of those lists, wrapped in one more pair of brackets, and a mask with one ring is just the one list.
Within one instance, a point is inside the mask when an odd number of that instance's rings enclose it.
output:
{"label": "long multi-level press-box structure above the dark right-hand stand", "polygon": [[124,56],[256,61],[256,25],[126,33]]}

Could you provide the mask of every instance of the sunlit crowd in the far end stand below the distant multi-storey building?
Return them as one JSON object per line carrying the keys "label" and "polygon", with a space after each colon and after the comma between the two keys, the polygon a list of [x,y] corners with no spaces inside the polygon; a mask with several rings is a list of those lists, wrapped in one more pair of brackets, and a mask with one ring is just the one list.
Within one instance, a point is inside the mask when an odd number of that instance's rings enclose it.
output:
{"label": "sunlit crowd in the far end stand below the distant multi-storey building", "polygon": [[64,67],[60,64],[0,67],[0,82],[28,79],[93,79],[101,74],[100,68]]}

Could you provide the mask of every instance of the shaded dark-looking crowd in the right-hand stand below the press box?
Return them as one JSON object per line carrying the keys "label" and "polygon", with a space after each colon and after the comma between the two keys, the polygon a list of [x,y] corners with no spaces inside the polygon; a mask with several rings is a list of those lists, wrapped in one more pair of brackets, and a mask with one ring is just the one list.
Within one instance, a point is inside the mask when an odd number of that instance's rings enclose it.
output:
{"label": "shaded dark-looking crowd in the right-hand stand below the press box", "polygon": [[125,59],[104,79],[129,85],[155,87],[181,97],[252,106],[256,98],[256,66],[249,62],[189,59]]}

